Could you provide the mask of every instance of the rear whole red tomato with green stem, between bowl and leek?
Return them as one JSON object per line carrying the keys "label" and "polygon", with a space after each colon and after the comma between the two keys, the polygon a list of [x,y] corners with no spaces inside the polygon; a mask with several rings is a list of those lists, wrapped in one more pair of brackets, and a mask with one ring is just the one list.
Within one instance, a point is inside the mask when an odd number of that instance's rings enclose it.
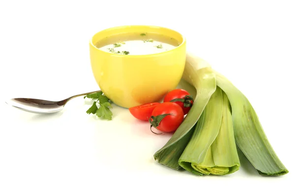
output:
{"label": "rear whole red tomato with green stem, between bowl and leek", "polygon": [[192,97],[187,97],[187,96],[189,96],[189,93],[186,90],[174,89],[165,96],[164,102],[169,102],[176,98],[181,99],[179,101],[172,101],[172,102],[177,103],[182,108],[183,114],[186,115],[193,104]]}

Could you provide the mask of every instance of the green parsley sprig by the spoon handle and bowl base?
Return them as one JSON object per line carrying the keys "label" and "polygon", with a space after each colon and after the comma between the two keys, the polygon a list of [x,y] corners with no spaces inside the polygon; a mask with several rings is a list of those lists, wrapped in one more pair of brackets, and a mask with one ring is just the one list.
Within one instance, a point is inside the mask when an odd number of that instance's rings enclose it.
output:
{"label": "green parsley sprig by the spoon handle and bowl base", "polygon": [[[95,114],[101,119],[112,120],[113,113],[110,110],[110,108],[112,108],[110,99],[103,95],[102,92],[92,93],[85,96],[84,98],[97,99],[86,111],[87,114]],[[99,105],[99,107],[97,107],[97,104]]]}

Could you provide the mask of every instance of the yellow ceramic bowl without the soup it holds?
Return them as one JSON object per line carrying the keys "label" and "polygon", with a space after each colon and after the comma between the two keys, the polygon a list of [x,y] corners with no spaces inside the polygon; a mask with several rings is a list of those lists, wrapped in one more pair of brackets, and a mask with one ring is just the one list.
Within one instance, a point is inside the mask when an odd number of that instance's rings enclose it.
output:
{"label": "yellow ceramic bowl without the soup it holds", "polygon": [[[95,47],[107,36],[129,32],[163,34],[181,44],[172,50],[147,55],[120,55]],[[121,107],[161,100],[177,87],[184,70],[186,40],[180,33],[168,28],[146,25],[109,28],[96,33],[89,45],[91,68],[98,86]]]}

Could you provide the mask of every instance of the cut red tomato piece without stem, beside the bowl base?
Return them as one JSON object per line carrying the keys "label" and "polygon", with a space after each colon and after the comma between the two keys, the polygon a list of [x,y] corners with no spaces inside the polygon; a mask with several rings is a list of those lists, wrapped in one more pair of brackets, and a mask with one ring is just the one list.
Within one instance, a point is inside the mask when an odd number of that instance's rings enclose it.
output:
{"label": "cut red tomato piece without stem, beside the bowl base", "polygon": [[148,121],[151,117],[151,113],[154,110],[154,108],[159,105],[160,103],[154,102],[154,103],[147,103],[135,107],[130,107],[129,111],[135,118],[142,120],[142,121]]}

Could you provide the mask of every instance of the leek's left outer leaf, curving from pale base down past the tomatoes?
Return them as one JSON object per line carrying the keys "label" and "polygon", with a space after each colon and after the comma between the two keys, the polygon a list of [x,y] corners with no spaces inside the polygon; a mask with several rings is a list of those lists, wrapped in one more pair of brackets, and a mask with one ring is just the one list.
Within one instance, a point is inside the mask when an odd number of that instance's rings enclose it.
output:
{"label": "leek's left outer leaf, curving from pale base down past the tomatoes", "polygon": [[164,147],[154,154],[154,159],[160,164],[173,169],[180,169],[178,159],[189,142],[194,126],[204,111],[207,102],[216,89],[215,74],[208,63],[198,57],[186,61],[182,78],[193,84],[197,94],[187,116],[177,128]]}

